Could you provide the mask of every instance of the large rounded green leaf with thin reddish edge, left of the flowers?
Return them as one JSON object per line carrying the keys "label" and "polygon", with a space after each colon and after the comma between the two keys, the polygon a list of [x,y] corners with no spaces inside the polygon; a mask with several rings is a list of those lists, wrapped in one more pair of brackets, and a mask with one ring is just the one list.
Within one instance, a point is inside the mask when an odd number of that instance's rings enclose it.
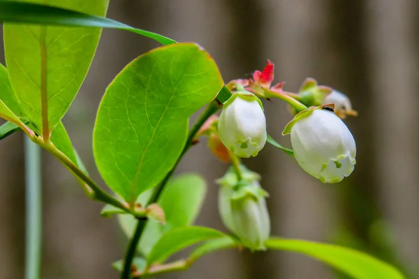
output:
{"label": "large rounded green leaf with thin reddish edge, left of the flowers", "polygon": [[156,186],[186,142],[188,119],[223,86],[214,60],[193,43],[139,56],[106,90],[94,127],[94,157],[128,202]]}

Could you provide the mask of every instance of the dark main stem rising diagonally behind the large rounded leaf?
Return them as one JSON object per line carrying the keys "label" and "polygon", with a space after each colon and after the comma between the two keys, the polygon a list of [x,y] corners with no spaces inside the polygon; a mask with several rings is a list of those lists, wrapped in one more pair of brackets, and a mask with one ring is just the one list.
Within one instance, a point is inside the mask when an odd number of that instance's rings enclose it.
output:
{"label": "dark main stem rising diagonally behind the large rounded leaf", "polygon": [[[184,146],[184,149],[181,155],[179,156],[179,158],[177,158],[177,161],[175,165],[172,167],[172,169],[170,170],[170,172],[168,172],[168,174],[166,174],[165,178],[161,181],[161,183],[159,183],[159,185],[156,186],[152,196],[149,198],[147,205],[145,207],[147,207],[149,204],[153,204],[157,202],[161,193],[163,192],[164,186],[166,186],[173,172],[175,172],[175,169],[177,165],[179,164],[180,160],[182,159],[186,151],[188,151],[189,148],[191,148],[191,146],[193,145],[193,139],[195,138],[196,134],[198,133],[200,128],[204,125],[205,121],[207,121],[207,119],[210,118],[212,114],[217,112],[217,110],[219,110],[220,107],[221,107],[220,104],[216,100],[213,100],[211,103],[207,105],[204,112],[198,117],[198,119],[196,120],[196,123],[193,124],[191,130],[189,130],[189,135],[188,135],[186,144]],[[135,249],[138,246],[138,241],[140,241],[140,236],[142,234],[142,231],[145,228],[146,223],[147,223],[147,220],[138,219],[138,224],[135,229],[134,236],[129,242],[128,249],[126,250],[126,256],[124,257],[124,269],[122,270],[121,279],[129,279],[129,275],[131,274],[131,265],[133,262],[133,257],[135,255]]]}

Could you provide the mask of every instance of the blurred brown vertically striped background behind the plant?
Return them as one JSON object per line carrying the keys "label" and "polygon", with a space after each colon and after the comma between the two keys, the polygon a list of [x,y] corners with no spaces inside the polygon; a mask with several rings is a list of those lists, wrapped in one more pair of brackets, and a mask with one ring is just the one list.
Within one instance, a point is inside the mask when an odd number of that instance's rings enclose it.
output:
{"label": "blurred brown vertically striped background behind the plant", "polygon": [[[247,77],[266,59],[276,80],[297,91],[314,77],[346,93],[358,146],[355,171],[322,184],[293,158],[267,145],[244,163],[263,175],[272,233],[365,250],[419,278],[419,1],[416,0],[111,0],[108,17],[178,41],[203,45],[225,81]],[[106,86],[126,63],[157,47],[152,40],[105,30],[64,124],[96,181],[91,134]],[[3,53],[3,51],[1,51]],[[1,58],[4,63],[3,57]],[[291,119],[279,100],[265,103],[269,133]],[[23,278],[23,135],[0,142],[0,278]],[[219,163],[198,144],[178,172],[200,172],[209,191],[197,224],[225,230],[216,208]],[[66,169],[43,154],[43,278],[117,278],[126,238],[115,218],[99,216]],[[162,278],[342,278],[319,262],[288,252],[217,252],[183,273]],[[379,279],[379,278],[376,278]]]}

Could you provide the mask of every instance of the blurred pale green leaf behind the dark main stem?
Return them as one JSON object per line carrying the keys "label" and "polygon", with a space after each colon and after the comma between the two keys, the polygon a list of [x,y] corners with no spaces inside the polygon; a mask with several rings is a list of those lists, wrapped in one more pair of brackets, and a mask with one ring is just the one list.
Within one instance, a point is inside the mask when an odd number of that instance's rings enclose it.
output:
{"label": "blurred pale green leaf behind the dark main stem", "polygon": [[[193,224],[203,204],[206,188],[204,179],[198,174],[182,174],[167,183],[158,201],[166,214],[166,224],[155,220],[147,222],[138,244],[138,250],[142,255],[148,255],[154,244],[170,229]],[[140,195],[140,198],[137,200],[140,204],[145,204],[148,199],[144,194]],[[112,212],[106,213],[120,212],[113,209]],[[118,218],[126,235],[131,237],[137,223],[135,218],[129,215],[119,215]]]}

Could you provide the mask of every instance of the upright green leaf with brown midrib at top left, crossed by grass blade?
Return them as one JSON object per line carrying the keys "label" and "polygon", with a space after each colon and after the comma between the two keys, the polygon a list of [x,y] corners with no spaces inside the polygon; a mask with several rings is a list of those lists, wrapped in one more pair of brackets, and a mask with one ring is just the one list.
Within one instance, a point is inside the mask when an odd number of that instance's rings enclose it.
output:
{"label": "upright green leaf with brown midrib at top left, crossed by grass blade", "polygon": [[[105,15],[108,8],[108,0],[49,3],[94,15]],[[15,13],[24,14],[24,8],[34,4],[1,1],[3,20],[7,8],[13,7],[20,7]],[[9,13],[7,17],[10,20],[14,16]],[[87,74],[101,29],[4,24],[3,35],[8,73],[20,109],[38,130],[48,124],[51,131],[68,110]]]}

